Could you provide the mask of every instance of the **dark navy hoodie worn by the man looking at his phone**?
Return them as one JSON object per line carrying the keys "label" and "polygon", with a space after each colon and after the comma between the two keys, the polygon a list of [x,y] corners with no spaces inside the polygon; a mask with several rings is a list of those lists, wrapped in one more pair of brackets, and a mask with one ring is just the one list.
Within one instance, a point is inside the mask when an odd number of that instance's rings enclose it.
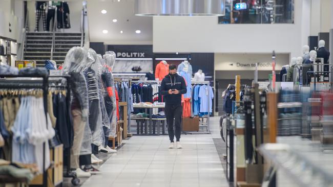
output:
{"label": "dark navy hoodie worn by the man looking at his phone", "polygon": [[[171,77],[169,74],[166,75],[161,82],[161,95],[165,98],[166,105],[180,105],[181,95],[186,93],[186,83],[183,77],[176,74]],[[178,94],[169,94],[169,89],[179,90]]]}

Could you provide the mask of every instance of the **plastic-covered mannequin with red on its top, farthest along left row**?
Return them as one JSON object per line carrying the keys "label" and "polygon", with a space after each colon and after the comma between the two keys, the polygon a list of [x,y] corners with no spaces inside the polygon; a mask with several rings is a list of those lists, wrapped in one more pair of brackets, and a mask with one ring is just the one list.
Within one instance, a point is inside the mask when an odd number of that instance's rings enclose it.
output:
{"label": "plastic-covered mannequin with red on its top, farthest along left row", "polygon": [[109,99],[105,100],[106,106],[111,106],[112,111],[109,114],[109,119],[111,122],[110,134],[109,136],[115,137],[116,135],[116,128],[117,128],[117,105],[116,105],[116,92],[115,92],[115,84],[112,75],[112,68],[116,60],[116,54],[112,51],[106,52],[103,55],[104,66],[103,66],[103,74],[102,78],[105,84],[110,84],[110,91],[108,93]]}

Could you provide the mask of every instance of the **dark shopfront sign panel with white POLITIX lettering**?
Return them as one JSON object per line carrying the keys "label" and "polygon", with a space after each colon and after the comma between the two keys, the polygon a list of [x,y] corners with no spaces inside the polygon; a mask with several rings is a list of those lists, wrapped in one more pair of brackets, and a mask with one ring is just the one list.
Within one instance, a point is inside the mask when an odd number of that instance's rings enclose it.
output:
{"label": "dark shopfront sign panel with white POLITIX lettering", "polygon": [[107,45],[117,58],[154,58],[153,45]]}

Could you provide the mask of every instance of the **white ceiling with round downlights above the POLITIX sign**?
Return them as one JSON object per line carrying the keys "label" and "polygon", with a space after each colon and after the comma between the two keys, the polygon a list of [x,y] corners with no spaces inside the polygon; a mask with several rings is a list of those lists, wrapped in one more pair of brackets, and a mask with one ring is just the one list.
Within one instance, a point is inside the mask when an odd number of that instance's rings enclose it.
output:
{"label": "white ceiling with round downlights above the POLITIX sign", "polygon": [[[91,42],[106,44],[152,44],[153,18],[134,15],[134,0],[88,0]],[[102,14],[101,10],[107,10]],[[117,19],[117,22],[113,22]],[[103,34],[103,30],[108,30]],[[120,31],[123,31],[121,34]],[[135,33],[141,30],[140,34]]]}

